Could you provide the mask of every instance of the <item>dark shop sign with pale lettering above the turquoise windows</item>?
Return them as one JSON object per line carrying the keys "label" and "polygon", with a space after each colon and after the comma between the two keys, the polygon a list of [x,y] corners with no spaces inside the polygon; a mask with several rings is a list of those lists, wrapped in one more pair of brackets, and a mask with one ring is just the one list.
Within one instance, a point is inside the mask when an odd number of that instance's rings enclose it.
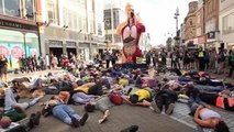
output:
{"label": "dark shop sign with pale lettering above the turquoise windows", "polygon": [[37,26],[11,22],[11,21],[7,21],[7,20],[0,20],[0,26],[15,28],[15,29],[22,29],[22,30],[35,30],[35,31],[37,30]]}

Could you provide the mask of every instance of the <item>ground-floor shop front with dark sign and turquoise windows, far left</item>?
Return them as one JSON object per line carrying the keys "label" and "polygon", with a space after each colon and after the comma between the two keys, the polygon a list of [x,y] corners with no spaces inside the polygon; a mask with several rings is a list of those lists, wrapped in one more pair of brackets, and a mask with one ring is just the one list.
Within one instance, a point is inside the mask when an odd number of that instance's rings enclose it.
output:
{"label": "ground-floor shop front with dark sign and turquoise windows, far left", "polygon": [[0,54],[8,58],[9,70],[20,67],[19,58],[23,55],[40,55],[37,34],[36,25],[0,20]]}

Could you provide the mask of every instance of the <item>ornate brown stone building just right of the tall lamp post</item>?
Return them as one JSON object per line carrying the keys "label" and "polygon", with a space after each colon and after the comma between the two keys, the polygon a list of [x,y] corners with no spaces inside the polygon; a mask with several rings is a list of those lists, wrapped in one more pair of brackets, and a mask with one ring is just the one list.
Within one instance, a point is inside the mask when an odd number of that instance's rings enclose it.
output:
{"label": "ornate brown stone building just right of the tall lamp post", "polygon": [[192,1],[189,3],[189,12],[185,18],[185,43],[196,43],[197,38],[197,16],[196,11],[198,10],[198,1]]}

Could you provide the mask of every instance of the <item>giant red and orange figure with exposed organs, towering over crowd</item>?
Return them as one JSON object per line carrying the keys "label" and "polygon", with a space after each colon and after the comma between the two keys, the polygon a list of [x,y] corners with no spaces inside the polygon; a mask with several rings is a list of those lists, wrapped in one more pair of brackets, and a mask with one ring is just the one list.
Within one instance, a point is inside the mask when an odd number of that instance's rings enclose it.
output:
{"label": "giant red and orange figure with exposed organs, towering over crowd", "polygon": [[116,34],[123,40],[123,63],[136,63],[136,57],[142,55],[138,41],[145,26],[136,20],[132,4],[125,7],[127,19],[116,28]]}

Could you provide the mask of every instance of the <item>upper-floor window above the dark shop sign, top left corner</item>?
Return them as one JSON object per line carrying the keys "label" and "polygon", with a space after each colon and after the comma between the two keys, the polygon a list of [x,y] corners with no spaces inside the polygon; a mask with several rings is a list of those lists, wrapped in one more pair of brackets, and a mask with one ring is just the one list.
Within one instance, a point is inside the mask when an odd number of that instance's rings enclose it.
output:
{"label": "upper-floor window above the dark shop sign, top left corner", "polygon": [[21,0],[4,0],[5,14],[20,18],[21,16],[20,2]]}

